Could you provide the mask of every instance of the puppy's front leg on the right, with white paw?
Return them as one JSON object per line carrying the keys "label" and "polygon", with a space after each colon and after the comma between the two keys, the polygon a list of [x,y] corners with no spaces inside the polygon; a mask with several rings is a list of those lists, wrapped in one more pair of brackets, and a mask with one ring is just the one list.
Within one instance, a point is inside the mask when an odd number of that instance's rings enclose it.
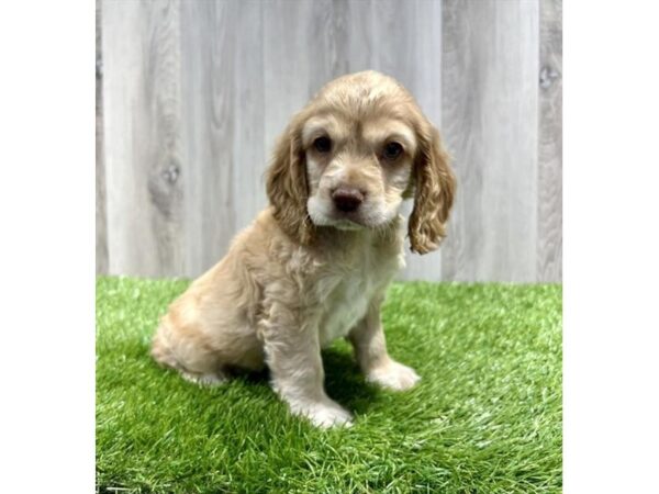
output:
{"label": "puppy's front leg on the right, with white paw", "polygon": [[364,319],[348,334],[355,356],[367,381],[382,388],[402,391],[412,388],[421,379],[413,369],[396,362],[387,352],[384,332],[380,321],[383,297],[375,299]]}

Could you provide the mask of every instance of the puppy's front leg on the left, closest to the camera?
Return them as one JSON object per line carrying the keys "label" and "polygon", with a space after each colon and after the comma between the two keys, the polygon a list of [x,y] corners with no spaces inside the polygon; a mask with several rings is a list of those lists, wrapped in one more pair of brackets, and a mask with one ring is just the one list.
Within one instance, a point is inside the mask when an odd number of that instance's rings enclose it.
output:
{"label": "puppy's front leg on the left, closest to the camera", "polygon": [[350,414],[325,393],[317,324],[300,326],[300,319],[304,318],[278,307],[265,324],[272,388],[293,415],[308,417],[319,427],[350,425]]}

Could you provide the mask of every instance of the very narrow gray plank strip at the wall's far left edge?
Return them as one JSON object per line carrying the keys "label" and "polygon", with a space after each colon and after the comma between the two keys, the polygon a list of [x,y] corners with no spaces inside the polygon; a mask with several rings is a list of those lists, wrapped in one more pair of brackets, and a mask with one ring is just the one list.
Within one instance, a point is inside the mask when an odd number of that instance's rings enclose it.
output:
{"label": "very narrow gray plank strip at the wall's far left edge", "polygon": [[96,1],[96,272],[108,273],[108,221],[105,211],[105,165],[103,159],[103,60],[101,49],[102,9]]}

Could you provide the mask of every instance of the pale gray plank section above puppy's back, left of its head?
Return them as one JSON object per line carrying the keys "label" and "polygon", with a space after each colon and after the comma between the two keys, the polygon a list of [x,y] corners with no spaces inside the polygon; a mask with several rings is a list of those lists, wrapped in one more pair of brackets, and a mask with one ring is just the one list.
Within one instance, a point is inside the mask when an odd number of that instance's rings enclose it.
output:
{"label": "pale gray plank section above puppy's back, left of its head", "polygon": [[187,262],[196,277],[266,205],[259,1],[182,3]]}

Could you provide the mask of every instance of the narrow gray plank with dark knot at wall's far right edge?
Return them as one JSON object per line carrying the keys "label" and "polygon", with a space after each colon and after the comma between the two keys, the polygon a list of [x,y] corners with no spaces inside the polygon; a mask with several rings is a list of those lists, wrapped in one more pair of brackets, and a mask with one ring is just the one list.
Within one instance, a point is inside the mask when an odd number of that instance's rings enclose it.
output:
{"label": "narrow gray plank with dark knot at wall's far right edge", "polygon": [[562,1],[540,0],[537,281],[562,280]]}

